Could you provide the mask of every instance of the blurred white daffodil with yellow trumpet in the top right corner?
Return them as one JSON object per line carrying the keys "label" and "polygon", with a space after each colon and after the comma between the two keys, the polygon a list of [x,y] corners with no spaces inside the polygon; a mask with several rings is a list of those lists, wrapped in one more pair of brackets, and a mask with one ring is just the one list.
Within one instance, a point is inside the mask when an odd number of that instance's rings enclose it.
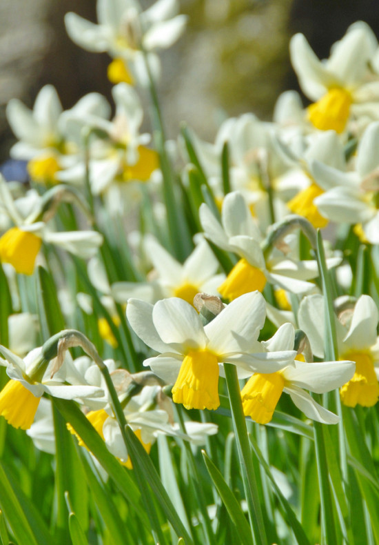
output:
{"label": "blurred white daffodil with yellow trumpet in the top right corner", "polygon": [[359,117],[370,107],[378,117],[379,81],[369,68],[378,41],[366,23],[351,25],[325,61],[318,60],[303,34],[291,38],[289,50],[300,87],[315,101],[307,115],[316,128],[343,132],[351,115]]}

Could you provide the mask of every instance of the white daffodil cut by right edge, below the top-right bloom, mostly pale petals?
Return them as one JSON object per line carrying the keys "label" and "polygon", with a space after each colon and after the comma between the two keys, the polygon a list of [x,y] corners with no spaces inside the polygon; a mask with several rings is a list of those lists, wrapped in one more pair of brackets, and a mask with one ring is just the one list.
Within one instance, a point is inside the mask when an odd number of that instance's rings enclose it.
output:
{"label": "white daffodil cut by right edge, below the top-right bloom, mostly pale petals", "polygon": [[341,172],[321,162],[313,165],[314,178],[325,190],[315,204],[338,223],[356,224],[363,241],[379,244],[379,122],[370,123],[358,146],[356,170]]}

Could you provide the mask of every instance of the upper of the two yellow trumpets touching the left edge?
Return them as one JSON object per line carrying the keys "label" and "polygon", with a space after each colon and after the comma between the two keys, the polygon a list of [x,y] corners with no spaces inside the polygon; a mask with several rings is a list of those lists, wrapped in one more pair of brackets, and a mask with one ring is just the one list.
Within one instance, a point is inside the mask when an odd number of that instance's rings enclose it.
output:
{"label": "upper of the two yellow trumpets touching the left edge", "polygon": [[0,261],[10,263],[21,275],[32,275],[42,239],[33,232],[12,227],[0,238]]}

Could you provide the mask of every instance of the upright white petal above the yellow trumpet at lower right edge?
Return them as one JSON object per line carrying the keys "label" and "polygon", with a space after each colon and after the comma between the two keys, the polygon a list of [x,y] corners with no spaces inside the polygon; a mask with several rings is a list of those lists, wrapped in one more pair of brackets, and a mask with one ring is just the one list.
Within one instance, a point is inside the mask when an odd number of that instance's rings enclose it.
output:
{"label": "upright white petal above the yellow trumpet at lower right edge", "polygon": [[369,295],[361,295],[354,307],[349,333],[343,339],[344,344],[358,350],[373,346],[377,339],[377,325],[378,308],[375,302]]}

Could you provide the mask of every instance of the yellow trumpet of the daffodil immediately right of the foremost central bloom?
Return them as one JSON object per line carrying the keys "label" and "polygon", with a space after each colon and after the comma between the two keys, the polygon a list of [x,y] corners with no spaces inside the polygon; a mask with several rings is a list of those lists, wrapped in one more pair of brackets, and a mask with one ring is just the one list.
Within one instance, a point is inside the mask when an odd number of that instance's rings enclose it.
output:
{"label": "yellow trumpet of the daffodil immediately right of the foremost central bloom", "polygon": [[241,391],[243,413],[258,424],[267,424],[284,386],[285,379],[280,373],[254,373]]}

